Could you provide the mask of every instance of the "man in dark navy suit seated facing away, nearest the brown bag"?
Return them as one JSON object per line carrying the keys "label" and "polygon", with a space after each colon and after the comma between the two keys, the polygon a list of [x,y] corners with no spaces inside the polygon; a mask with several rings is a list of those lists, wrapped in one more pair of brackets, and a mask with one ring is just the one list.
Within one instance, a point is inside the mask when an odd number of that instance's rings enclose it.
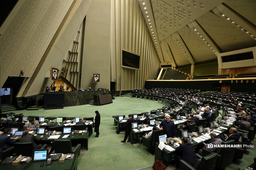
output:
{"label": "man in dark navy suit seated facing away, nearest the brown bag", "polygon": [[181,142],[182,143],[180,144],[180,146],[176,147],[176,152],[177,152],[176,167],[178,168],[177,165],[179,165],[179,161],[181,159],[185,160],[191,166],[196,165],[197,157],[196,157],[196,154],[194,153],[192,143],[188,142],[187,137],[182,137]]}

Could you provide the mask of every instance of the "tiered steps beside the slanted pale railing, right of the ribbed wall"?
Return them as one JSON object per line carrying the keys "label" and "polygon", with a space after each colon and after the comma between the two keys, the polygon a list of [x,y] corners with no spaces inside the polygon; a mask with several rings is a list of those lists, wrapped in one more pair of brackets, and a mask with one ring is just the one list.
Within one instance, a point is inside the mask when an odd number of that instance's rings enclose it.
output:
{"label": "tiered steps beside the slanted pale railing, right of the ribbed wall", "polygon": [[188,80],[189,77],[189,74],[183,73],[180,70],[167,68],[164,72],[162,80]]}

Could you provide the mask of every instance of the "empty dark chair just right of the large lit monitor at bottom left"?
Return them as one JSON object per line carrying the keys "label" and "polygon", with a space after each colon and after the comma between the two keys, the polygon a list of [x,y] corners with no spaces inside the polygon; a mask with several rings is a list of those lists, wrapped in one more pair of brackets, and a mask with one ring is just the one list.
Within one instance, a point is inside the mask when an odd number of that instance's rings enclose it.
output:
{"label": "empty dark chair just right of the large lit monitor at bottom left", "polygon": [[72,147],[70,140],[55,140],[53,144],[54,151],[52,153],[75,153],[80,155],[81,144],[76,145],[76,147]]}

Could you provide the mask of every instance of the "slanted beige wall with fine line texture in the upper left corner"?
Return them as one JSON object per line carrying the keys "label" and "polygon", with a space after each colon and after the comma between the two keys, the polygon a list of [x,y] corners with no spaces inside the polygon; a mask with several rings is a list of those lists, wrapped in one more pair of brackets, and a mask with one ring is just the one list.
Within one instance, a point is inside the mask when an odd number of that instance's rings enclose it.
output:
{"label": "slanted beige wall with fine line texture in the upper left corner", "polygon": [[[0,37],[0,86],[23,70],[31,77],[73,0],[27,0]],[[44,78],[42,78],[44,79]]]}

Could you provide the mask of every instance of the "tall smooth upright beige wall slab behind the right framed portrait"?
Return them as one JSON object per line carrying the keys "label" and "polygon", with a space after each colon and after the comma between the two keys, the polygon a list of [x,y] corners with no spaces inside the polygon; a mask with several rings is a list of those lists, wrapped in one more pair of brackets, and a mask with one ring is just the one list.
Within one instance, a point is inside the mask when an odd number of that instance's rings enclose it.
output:
{"label": "tall smooth upright beige wall slab behind the right framed portrait", "polygon": [[[81,87],[110,89],[110,0],[93,0],[86,15]],[[93,83],[93,73],[100,82]]]}

